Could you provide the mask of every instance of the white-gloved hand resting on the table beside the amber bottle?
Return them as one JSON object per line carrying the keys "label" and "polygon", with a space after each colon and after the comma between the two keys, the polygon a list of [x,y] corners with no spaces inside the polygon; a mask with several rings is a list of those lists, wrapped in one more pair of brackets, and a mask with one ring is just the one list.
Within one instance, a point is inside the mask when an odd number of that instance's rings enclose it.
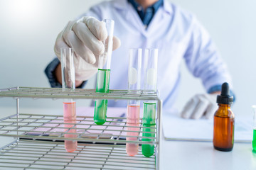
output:
{"label": "white-gloved hand resting on the table beside the amber bottle", "polygon": [[206,118],[212,118],[218,109],[216,103],[218,94],[196,94],[191,98],[181,111],[182,118],[198,119],[203,115]]}

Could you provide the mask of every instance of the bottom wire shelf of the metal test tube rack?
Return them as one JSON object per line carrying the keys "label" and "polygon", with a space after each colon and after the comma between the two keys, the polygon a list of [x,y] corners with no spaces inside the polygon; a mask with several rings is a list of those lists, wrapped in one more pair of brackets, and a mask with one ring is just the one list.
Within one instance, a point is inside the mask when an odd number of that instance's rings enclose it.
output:
{"label": "bottom wire shelf of the metal test tube rack", "polygon": [[63,142],[20,140],[0,153],[3,169],[156,169],[155,155],[144,157],[139,147],[129,157],[124,145],[80,144],[68,153]]}

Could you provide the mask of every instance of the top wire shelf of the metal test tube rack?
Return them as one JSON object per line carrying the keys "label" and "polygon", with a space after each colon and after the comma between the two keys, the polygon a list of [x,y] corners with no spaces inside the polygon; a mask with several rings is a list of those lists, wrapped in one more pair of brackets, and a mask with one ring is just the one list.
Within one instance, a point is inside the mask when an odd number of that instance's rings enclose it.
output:
{"label": "top wire shelf of the metal test tube rack", "polygon": [[95,89],[75,89],[63,91],[61,88],[14,87],[1,89],[0,96],[28,98],[91,98],[114,100],[158,100],[154,91],[110,90],[108,93],[97,93]]}

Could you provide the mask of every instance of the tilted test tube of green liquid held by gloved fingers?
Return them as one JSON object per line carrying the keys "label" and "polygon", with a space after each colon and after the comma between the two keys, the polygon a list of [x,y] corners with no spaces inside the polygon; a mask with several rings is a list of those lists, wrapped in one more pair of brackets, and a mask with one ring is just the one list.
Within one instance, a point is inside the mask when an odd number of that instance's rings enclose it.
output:
{"label": "tilted test tube of green liquid held by gloved fingers", "polygon": [[[96,92],[107,93],[110,86],[110,64],[113,49],[114,21],[105,19],[104,23],[107,28],[107,39],[103,41],[105,51],[99,56],[97,87]],[[105,64],[106,63],[106,64]],[[97,125],[103,125],[107,118],[107,100],[95,101],[94,121]]]}

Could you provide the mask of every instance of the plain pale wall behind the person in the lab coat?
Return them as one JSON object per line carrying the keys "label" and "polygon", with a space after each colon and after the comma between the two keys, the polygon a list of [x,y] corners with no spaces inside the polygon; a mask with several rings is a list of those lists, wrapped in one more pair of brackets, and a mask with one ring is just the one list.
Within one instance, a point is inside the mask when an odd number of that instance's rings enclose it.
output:
{"label": "plain pale wall behind the person in the lab coat", "polygon": [[[11,86],[48,87],[43,72],[53,59],[56,35],[65,24],[101,0],[0,0],[0,89]],[[255,100],[256,1],[174,0],[196,14],[218,45],[233,77],[237,101],[235,114],[250,114]],[[181,67],[182,87],[177,106],[196,93],[204,92],[201,81]],[[189,82],[189,83],[188,83]],[[189,84],[189,86],[188,86]],[[92,84],[90,84],[90,87]],[[0,106],[13,106],[1,99]],[[29,100],[24,106],[29,106]],[[38,107],[53,107],[50,100]]]}

